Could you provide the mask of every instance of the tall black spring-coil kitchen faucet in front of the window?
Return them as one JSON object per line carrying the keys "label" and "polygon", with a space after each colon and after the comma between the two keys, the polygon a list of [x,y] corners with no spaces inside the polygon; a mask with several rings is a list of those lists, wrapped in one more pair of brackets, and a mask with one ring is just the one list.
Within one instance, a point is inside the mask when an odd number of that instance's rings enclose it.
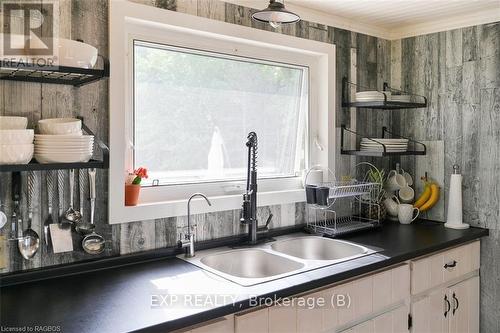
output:
{"label": "tall black spring-coil kitchen faucet in front of the window", "polygon": [[257,234],[261,231],[268,231],[273,214],[269,215],[266,225],[258,228],[257,221],[257,134],[248,133],[248,164],[247,164],[247,188],[243,194],[243,207],[241,209],[240,222],[248,225],[248,243],[257,243]]}

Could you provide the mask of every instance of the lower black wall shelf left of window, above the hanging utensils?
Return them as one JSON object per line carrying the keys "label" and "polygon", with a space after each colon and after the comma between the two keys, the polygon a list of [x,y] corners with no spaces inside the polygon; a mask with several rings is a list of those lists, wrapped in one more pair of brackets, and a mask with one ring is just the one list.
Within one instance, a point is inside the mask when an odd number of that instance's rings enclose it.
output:
{"label": "lower black wall shelf left of window, above the hanging utensils", "polygon": [[[94,133],[83,123],[82,119],[82,129],[89,135],[94,135]],[[28,164],[4,164],[0,165],[0,172],[19,172],[19,171],[40,171],[40,170],[63,170],[63,169],[107,169],[109,168],[109,148],[104,142],[99,140],[94,135],[94,145],[97,144],[102,152],[102,159],[96,160],[92,159],[88,162],[79,163],[38,163],[35,159],[32,159]]]}

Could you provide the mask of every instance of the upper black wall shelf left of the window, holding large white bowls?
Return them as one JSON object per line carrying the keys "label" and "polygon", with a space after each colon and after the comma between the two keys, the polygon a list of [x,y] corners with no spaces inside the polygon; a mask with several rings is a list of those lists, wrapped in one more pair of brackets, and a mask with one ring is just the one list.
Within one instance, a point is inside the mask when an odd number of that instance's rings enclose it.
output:
{"label": "upper black wall shelf left of the window, holding large white bowls", "polygon": [[109,61],[102,57],[103,69],[65,66],[37,66],[18,62],[0,62],[0,80],[65,84],[81,87],[109,77]]}

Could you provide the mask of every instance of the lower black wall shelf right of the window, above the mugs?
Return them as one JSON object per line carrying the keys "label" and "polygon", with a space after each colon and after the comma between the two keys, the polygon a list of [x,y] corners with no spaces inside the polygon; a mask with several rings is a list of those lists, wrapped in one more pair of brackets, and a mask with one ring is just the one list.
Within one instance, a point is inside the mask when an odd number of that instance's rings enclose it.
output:
{"label": "lower black wall shelf right of the window, above the mugs", "polygon": [[[412,149],[409,149],[404,152],[388,152],[387,147],[380,142],[377,142],[377,139],[373,139],[373,142],[376,142],[380,145],[380,147],[383,149],[383,151],[362,151],[362,150],[352,150],[352,149],[345,149],[344,148],[344,135],[346,132],[354,134],[356,137],[364,137],[361,134],[347,128],[345,125],[342,125],[342,132],[340,136],[340,153],[343,155],[356,155],[356,156],[368,156],[368,157],[384,157],[384,156],[402,156],[402,155],[425,155],[427,154],[427,147],[425,144],[419,141],[415,141],[413,139],[404,137],[399,134],[395,134],[387,129],[387,127],[382,127],[382,139],[387,139],[388,136],[392,138],[400,138],[400,139],[408,139],[409,140],[409,145],[413,146],[411,147]],[[420,148],[420,149],[418,149]]]}

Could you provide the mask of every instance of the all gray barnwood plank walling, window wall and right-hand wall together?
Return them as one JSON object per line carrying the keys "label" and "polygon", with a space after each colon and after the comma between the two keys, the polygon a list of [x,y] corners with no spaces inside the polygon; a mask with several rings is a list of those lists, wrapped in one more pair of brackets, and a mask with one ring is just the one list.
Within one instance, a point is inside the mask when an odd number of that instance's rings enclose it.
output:
{"label": "all gray barnwood plank walling, window wall and right-hand wall together", "polygon": [[[42,2],[42,0],[40,0]],[[253,22],[253,9],[218,0],[135,0],[145,5],[208,17],[255,29],[274,31],[269,25]],[[63,37],[82,39],[108,55],[108,1],[60,0],[60,28]],[[382,126],[419,140],[442,141],[444,156],[436,156],[432,170],[444,168],[445,199],[451,166],[458,163],[464,173],[464,214],[473,225],[490,228],[482,243],[481,331],[500,331],[500,24],[488,24],[396,41],[387,41],[331,26],[301,21],[284,26],[277,33],[333,43],[337,47],[337,126],[346,124],[370,136],[379,136]],[[425,95],[425,110],[374,111],[341,108],[341,80],[373,88],[391,82],[394,88]],[[34,83],[0,81],[0,114],[26,115],[33,126],[38,119],[61,116],[85,117],[87,125],[105,142],[108,140],[108,85],[106,81],[81,88]],[[351,119],[355,123],[351,123]],[[436,143],[439,147],[440,144]],[[368,160],[391,169],[399,159],[354,159],[338,155],[336,170],[347,174],[356,161]],[[422,161],[401,161],[410,171],[423,167]],[[36,210],[33,228],[42,236],[42,221],[47,216],[45,177],[37,175]],[[54,176],[54,175],[52,175]],[[417,175],[418,176],[418,175]],[[24,175],[25,177],[25,175]],[[67,172],[64,172],[67,183]],[[186,217],[126,224],[107,223],[107,171],[97,175],[97,231],[107,239],[106,250],[99,257],[173,246]],[[23,190],[26,186],[24,186]],[[0,199],[5,213],[11,214],[11,181],[0,174]],[[64,208],[69,190],[65,187]],[[88,195],[85,194],[85,195]],[[57,198],[54,211],[57,212]],[[23,203],[25,207],[25,203]],[[85,202],[88,211],[88,202]],[[23,209],[26,212],[26,209]],[[303,203],[259,208],[261,220],[272,212],[271,227],[303,223]],[[87,214],[88,215],[88,214]],[[25,217],[26,218],[26,217]],[[88,216],[87,216],[88,218]],[[239,211],[225,211],[194,216],[199,240],[214,239],[245,232],[238,222]],[[8,235],[10,224],[1,232]],[[7,244],[7,266],[1,273],[43,268],[95,259],[81,251],[79,238],[75,251],[53,254],[42,249],[31,261],[21,258],[17,249]]]}

